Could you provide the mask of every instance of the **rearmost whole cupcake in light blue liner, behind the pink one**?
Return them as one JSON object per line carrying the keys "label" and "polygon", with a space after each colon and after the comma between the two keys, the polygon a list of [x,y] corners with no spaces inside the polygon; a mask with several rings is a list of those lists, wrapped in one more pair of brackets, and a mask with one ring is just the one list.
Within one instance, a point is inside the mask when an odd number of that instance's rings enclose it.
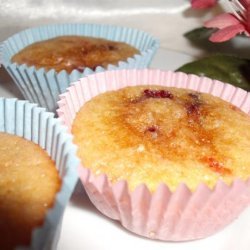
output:
{"label": "rearmost whole cupcake in light blue liner, behind the pink one", "polygon": [[55,111],[70,82],[108,69],[145,68],[158,46],[155,38],[136,29],[54,24],[10,37],[3,42],[1,57],[24,97]]}

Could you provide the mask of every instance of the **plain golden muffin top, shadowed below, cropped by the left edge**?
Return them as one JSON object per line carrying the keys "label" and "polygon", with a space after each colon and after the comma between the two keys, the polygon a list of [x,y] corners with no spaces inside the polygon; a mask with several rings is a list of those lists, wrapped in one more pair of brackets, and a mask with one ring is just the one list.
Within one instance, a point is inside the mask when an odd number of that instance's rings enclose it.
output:
{"label": "plain golden muffin top, shadowed below, cropped by the left edge", "polygon": [[0,133],[0,248],[28,245],[34,227],[53,206],[61,180],[38,145]]}

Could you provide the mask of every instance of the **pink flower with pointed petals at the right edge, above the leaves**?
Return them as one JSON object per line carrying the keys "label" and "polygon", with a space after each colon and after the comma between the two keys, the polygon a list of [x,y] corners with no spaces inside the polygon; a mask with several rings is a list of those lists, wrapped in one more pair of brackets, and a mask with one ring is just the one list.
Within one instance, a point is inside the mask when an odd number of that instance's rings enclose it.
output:
{"label": "pink flower with pointed petals at the right edge, above the leaves", "polygon": [[210,36],[211,42],[225,42],[241,33],[250,35],[250,0],[239,2],[244,7],[241,14],[224,13],[205,22],[206,28],[219,29]]}

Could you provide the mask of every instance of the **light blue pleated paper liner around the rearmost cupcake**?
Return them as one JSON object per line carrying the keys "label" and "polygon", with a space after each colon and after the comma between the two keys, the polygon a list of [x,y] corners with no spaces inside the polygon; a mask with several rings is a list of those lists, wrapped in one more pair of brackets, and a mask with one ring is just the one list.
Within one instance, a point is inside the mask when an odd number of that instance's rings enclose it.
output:
{"label": "light blue pleated paper liner around the rearmost cupcake", "polygon": [[[11,63],[11,57],[24,47],[41,40],[63,35],[83,35],[101,37],[113,41],[126,42],[140,50],[140,55],[120,61],[117,66],[108,65],[105,69],[97,67],[95,71],[86,68],[83,73],[73,70],[68,74],[65,70],[56,73],[55,70],[36,70],[25,64]],[[2,44],[1,61],[25,99],[46,107],[55,112],[59,94],[66,91],[70,82],[81,77],[115,69],[142,69],[149,66],[153,55],[159,47],[159,41],[146,32],[112,25],[98,24],[53,24],[27,29],[8,38]]]}

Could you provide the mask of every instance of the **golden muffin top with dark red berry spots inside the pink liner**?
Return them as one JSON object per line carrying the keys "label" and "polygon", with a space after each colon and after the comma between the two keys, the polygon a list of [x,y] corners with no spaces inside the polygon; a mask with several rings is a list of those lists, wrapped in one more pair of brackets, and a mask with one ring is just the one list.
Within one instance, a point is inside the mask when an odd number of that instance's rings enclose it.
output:
{"label": "golden muffin top with dark red berry spots inside the pink liner", "polygon": [[106,92],[80,109],[72,133],[84,166],[131,190],[250,176],[250,117],[209,94],[153,85]]}

